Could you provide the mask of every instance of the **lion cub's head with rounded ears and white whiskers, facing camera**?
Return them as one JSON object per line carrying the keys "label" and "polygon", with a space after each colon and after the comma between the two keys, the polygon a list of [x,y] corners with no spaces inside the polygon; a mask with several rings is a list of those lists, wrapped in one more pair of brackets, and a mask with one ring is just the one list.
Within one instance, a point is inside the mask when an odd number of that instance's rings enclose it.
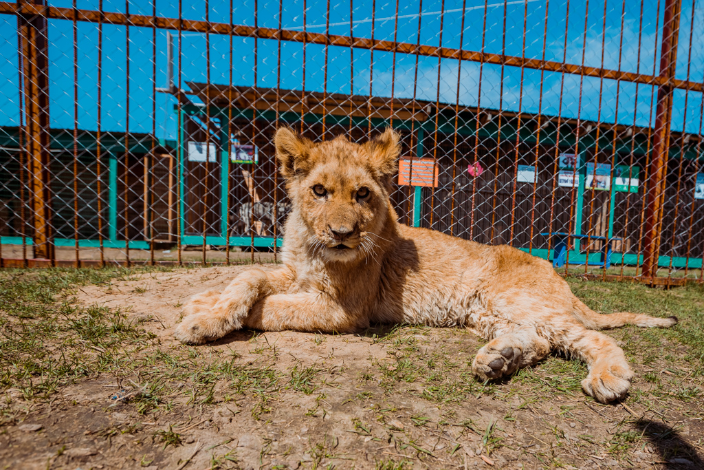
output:
{"label": "lion cub's head with rounded ears and white whiskers, facing camera", "polygon": [[[364,144],[337,137],[313,143],[290,129],[276,133],[276,154],[296,230],[327,261],[354,261],[389,237],[396,214],[389,204],[398,135],[391,129]],[[391,222],[391,223],[390,223]]]}

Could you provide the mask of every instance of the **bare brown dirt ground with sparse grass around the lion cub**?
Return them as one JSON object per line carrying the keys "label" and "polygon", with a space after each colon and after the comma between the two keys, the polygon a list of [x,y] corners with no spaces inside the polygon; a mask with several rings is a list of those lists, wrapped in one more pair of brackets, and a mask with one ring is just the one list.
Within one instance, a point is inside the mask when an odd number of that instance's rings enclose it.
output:
{"label": "bare brown dirt ground with sparse grass around the lion cub", "polygon": [[[243,269],[142,272],[72,290],[65,302],[118,311],[145,334],[122,356],[87,342],[82,354],[107,365],[46,399],[4,388],[0,469],[704,468],[703,372],[691,359],[704,351],[664,330],[609,333],[636,379],[608,406],[579,389],[584,364],[563,357],[478,382],[470,366],[483,341],[457,328],[175,342],[184,301]],[[620,288],[574,282],[596,295],[594,308],[600,289]]]}

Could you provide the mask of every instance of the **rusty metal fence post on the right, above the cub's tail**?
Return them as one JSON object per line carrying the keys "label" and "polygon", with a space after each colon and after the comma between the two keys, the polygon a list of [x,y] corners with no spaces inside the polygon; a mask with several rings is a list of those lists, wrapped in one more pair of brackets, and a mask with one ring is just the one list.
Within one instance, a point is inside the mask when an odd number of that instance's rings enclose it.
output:
{"label": "rusty metal fence post on the right, above the cub's tail", "polygon": [[660,78],[667,80],[658,88],[658,105],[653,129],[653,158],[650,159],[650,178],[646,194],[646,233],[644,237],[643,276],[653,277],[658,272],[660,256],[660,231],[662,218],[662,193],[665,191],[670,118],[672,116],[672,85],[677,63],[677,37],[681,0],[665,1],[662,24],[662,49],[660,51]]}

